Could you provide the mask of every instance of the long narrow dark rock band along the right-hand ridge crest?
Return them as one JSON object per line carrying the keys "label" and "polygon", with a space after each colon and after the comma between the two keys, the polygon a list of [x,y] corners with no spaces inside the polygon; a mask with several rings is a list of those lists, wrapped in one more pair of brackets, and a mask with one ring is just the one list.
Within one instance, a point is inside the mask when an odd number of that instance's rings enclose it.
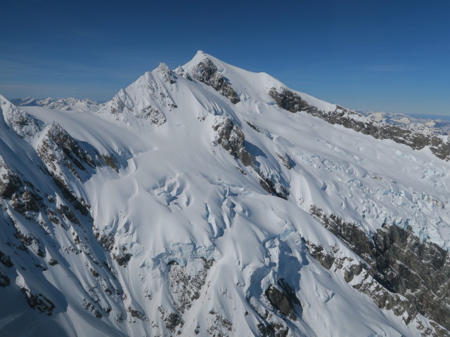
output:
{"label": "long narrow dark rock band along the right-hand ridge crest", "polygon": [[274,98],[278,107],[289,112],[304,111],[328,121],[330,124],[338,124],[345,128],[352,128],[354,131],[373,136],[377,139],[394,140],[395,143],[408,145],[414,150],[421,150],[428,146],[431,152],[439,159],[450,160],[450,143],[445,143],[442,138],[439,138],[438,134],[428,135],[395,125],[379,123],[371,119],[365,119],[361,114],[340,106],[334,112],[323,112],[309,105],[306,101],[302,100],[300,95],[286,88],[283,88],[281,91],[271,88],[269,95],[271,95],[271,98]]}

